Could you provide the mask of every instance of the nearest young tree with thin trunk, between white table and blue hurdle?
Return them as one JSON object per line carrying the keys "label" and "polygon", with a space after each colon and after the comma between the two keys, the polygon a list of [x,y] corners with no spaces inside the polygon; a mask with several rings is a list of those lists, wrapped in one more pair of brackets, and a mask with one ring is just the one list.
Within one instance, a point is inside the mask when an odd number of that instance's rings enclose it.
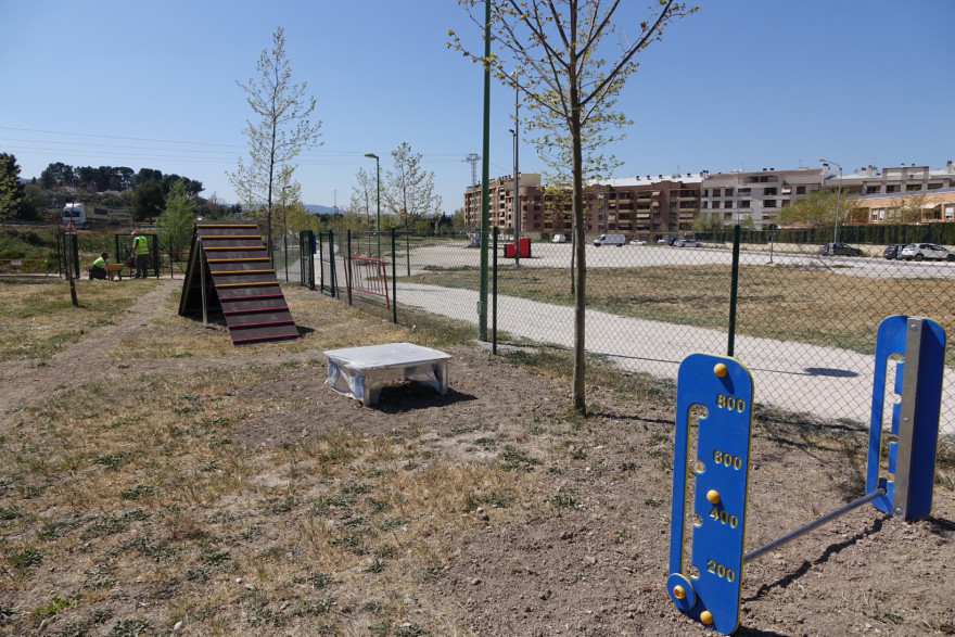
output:
{"label": "nearest young tree with thin trunk, between white table and blue hurdle", "polygon": [[[484,16],[475,16],[476,0],[459,0],[482,29]],[[621,0],[486,0],[494,41],[505,55],[470,53],[450,31],[450,46],[484,64],[512,90],[521,92],[532,113],[531,126],[549,129],[545,142],[565,146],[571,163],[574,256],[577,264],[574,290],[573,405],[583,412],[585,372],[586,262],[584,243],[584,151],[587,140],[625,123],[614,110],[626,78],[637,69],[636,54],[662,39],[664,27],[675,17],[696,11],[683,2],[659,0],[640,21],[626,15],[633,3]],[[485,7],[484,3],[481,3]],[[625,15],[615,15],[617,10]],[[481,12],[483,14],[483,12]],[[627,33],[623,26],[632,24]],[[606,36],[620,31],[614,44]],[[611,51],[615,47],[616,51]],[[510,58],[510,59],[508,59]],[[513,75],[511,75],[513,72]],[[560,155],[560,153],[557,153]]]}

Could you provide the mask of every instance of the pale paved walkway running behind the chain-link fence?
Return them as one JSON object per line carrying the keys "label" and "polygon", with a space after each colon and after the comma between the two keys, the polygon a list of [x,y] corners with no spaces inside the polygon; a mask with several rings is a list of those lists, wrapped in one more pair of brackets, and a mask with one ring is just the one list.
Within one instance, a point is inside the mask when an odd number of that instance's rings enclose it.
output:
{"label": "pale paved walkway running behind the chain-link fence", "polygon": [[[432,314],[478,322],[478,292],[398,283],[397,300],[402,305]],[[498,332],[573,347],[572,307],[500,295],[497,307]],[[587,310],[586,332],[588,352],[609,356],[626,370],[674,380],[680,361],[689,354],[726,354],[727,347],[727,334],[718,330],[625,318],[598,310]],[[850,419],[868,426],[874,356],[743,335],[736,337],[735,355],[753,377],[756,402],[827,420]],[[891,387],[894,366],[889,368],[887,386]],[[944,434],[955,434],[953,375],[946,373],[944,379],[941,423]],[[887,413],[887,421],[888,418]]]}

